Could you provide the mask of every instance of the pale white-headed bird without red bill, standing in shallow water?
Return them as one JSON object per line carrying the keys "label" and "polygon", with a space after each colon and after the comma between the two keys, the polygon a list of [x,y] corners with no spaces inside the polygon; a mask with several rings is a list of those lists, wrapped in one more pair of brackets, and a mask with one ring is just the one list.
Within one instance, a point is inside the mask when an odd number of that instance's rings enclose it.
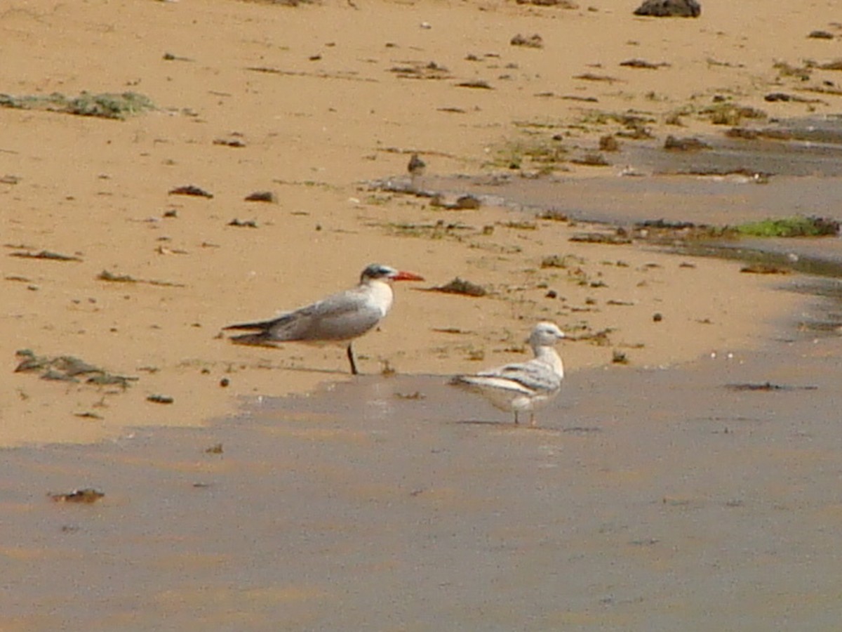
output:
{"label": "pale white-headed bird without red bill, standing in shallow water", "polygon": [[457,375],[450,383],[481,394],[500,410],[518,413],[529,411],[530,425],[535,426],[535,410],[554,398],[562,388],[564,365],[553,349],[564,337],[554,323],[538,323],[529,337],[535,358],[496,367],[475,375]]}

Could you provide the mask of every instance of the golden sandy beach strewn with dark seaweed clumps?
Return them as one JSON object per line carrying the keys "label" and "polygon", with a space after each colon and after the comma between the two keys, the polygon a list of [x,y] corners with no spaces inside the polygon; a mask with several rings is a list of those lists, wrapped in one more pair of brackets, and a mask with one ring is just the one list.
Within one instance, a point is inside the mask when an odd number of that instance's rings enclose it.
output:
{"label": "golden sandy beach strewn with dark seaweed clumps", "polygon": [[[588,226],[511,207],[448,211],[365,185],[408,179],[413,152],[431,178],[613,177],[622,153],[606,154],[605,167],[573,159],[605,135],[638,142],[624,131],[640,125],[654,139],[721,134],[703,114],[717,98],[770,117],[838,105],[834,94],[764,101],[772,91],[815,95],[802,90],[835,80],[830,70],[807,82],[775,67],[832,58],[838,33],[807,37],[839,30],[829,4],[741,3],[745,19],[724,3],[706,3],[700,19],[642,19],[633,8],[8,4],[3,93],[131,91],[155,109],[125,121],[0,109],[0,443],[196,425],[235,410],[242,394],[347,379],[341,350],[255,350],[217,336],[350,287],[372,261],[423,274],[427,288],[459,276],[489,293],[398,287],[393,313],[358,344],[363,372],[449,374],[525,357],[536,319],[572,337],[605,332],[600,345],[565,347],[572,372],[610,363],[615,350],[658,366],[759,344],[797,298],[738,264],[576,244],[569,238]],[[541,35],[543,47],[512,46],[519,34]],[[621,65],[630,59],[654,67]],[[645,124],[630,128],[638,115]],[[536,143],[562,146],[562,158],[524,158]],[[170,194],[186,185],[212,198]],[[244,201],[255,191],[274,202]],[[31,256],[44,251],[69,260]],[[552,256],[565,266],[541,267]],[[663,320],[653,324],[654,313]],[[76,356],[130,386],[14,373],[22,349]]]}

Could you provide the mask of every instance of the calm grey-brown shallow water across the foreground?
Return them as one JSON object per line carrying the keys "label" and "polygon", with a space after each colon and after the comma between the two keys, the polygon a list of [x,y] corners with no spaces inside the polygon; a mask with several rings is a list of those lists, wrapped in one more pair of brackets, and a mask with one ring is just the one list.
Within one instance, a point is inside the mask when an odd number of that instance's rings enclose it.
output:
{"label": "calm grey-brown shallow water across the foreground", "polygon": [[0,629],[837,629],[842,339],[787,337],[573,374],[536,430],[363,377],[6,450]]}

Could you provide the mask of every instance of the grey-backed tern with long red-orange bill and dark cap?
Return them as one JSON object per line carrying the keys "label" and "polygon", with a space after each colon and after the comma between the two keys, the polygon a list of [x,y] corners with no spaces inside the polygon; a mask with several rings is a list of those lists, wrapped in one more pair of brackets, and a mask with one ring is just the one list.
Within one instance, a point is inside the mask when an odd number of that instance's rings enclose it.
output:
{"label": "grey-backed tern with long red-orange bill and dark cap", "polygon": [[395,270],[388,265],[371,264],[362,271],[360,285],[344,292],[280,314],[277,318],[257,323],[231,324],[223,329],[253,330],[255,334],[232,337],[240,345],[269,345],[278,342],[309,344],[348,343],[351,372],[357,375],[357,364],[351,346],[354,338],[374,329],[392,308],[392,281],[424,281],[413,272]]}

